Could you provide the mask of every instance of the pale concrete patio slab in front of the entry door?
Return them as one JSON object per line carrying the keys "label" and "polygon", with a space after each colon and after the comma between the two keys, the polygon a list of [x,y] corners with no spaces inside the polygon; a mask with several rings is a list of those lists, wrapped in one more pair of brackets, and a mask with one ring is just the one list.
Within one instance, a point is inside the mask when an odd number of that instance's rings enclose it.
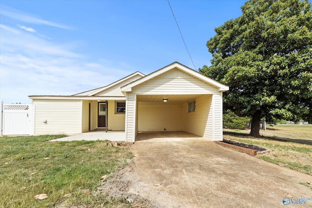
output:
{"label": "pale concrete patio slab in front of the entry door", "polygon": [[53,139],[50,142],[59,141],[96,141],[96,140],[109,140],[109,141],[125,141],[125,132],[85,132],[78,133],[71,136],[66,136],[59,139]]}

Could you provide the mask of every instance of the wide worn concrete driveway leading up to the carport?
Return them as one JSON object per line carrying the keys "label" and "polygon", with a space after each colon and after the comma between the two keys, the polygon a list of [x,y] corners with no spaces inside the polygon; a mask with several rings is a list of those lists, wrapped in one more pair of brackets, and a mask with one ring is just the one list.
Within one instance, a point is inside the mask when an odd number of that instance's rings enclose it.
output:
{"label": "wide worn concrete driveway leading up to the carport", "polygon": [[[135,155],[133,163],[99,190],[130,202],[136,197],[144,199],[144,207],[169,208],[303,207],[292,204],[290,199],[300,202],[312,198],[312,189],[307,187],[312,176],[232,151],[194,134],[173,139],[144,139],[143,135],[138,140],[130,147]],[[304,207],[312,207],[312,201],[305,201]]]}

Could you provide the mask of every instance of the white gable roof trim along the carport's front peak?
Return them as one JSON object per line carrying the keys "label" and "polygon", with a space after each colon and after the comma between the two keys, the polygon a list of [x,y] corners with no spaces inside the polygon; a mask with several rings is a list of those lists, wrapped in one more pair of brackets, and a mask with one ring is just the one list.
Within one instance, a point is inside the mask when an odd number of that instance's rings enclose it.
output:
{"label": "white gable roof trim along the carport's front peak", "polygon": [[132,88],[147,81],[147,80],[150,80],[156,76],[159,76],[171,69],[174,69],[174,68],[178,68],[179,70],[185,72],[185,73],[188,73],[192,76],[195,76],[196,78],[208,83],[208,84],[211,84],[213,86],[215,86],[216,88],[218,88],[218,90],[220,92],[225,92],[225,91],[228,91],[229,90],[229,87],[224,85],[224,84],[221,84],[220,82],[217,82],[215,81],[214,79],[212,78],[209,78],[208,76],[204,76],[202,74],[200,74],[199,72],[196,72],[195,70],[187,67],[187,66],[184,66],[183,64],[180,64],[179,62],[173,62],[172,64],[169,64],[168,66],[165,66],[147,76],[143,76],[133,82],[130,82],[129,84],[126,84],[124,86],[121,87],[121,91],[122,92],[131,92],[132,91]]}

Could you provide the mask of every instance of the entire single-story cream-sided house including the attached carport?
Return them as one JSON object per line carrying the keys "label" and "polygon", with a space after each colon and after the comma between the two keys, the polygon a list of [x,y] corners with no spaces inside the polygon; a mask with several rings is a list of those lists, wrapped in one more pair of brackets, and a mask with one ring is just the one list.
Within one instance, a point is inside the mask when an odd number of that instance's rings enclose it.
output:
{"label": "entire single-story cream-sided house including the attached carport", "polygon": [[140,72],[108,86],[69,96],[31,95],[34,134],[184,131],[222,140],[222,93],[215,80],[178,62],[147,76]]}

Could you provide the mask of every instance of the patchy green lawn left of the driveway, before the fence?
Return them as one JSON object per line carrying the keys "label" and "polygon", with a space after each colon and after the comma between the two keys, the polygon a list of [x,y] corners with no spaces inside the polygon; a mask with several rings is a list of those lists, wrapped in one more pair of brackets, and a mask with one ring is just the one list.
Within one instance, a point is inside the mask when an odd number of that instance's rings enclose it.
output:
{"label": "patchy green lawn left of the driveway, before the fence", "polygon": [[[123,200],[92,194],[102,175],[127,164],[132,157],[127,148],[107,141],[47,142],[63,136],[0,137],[0,207],[128,207]],[[48,198],[35,199],[41,193]]]}

